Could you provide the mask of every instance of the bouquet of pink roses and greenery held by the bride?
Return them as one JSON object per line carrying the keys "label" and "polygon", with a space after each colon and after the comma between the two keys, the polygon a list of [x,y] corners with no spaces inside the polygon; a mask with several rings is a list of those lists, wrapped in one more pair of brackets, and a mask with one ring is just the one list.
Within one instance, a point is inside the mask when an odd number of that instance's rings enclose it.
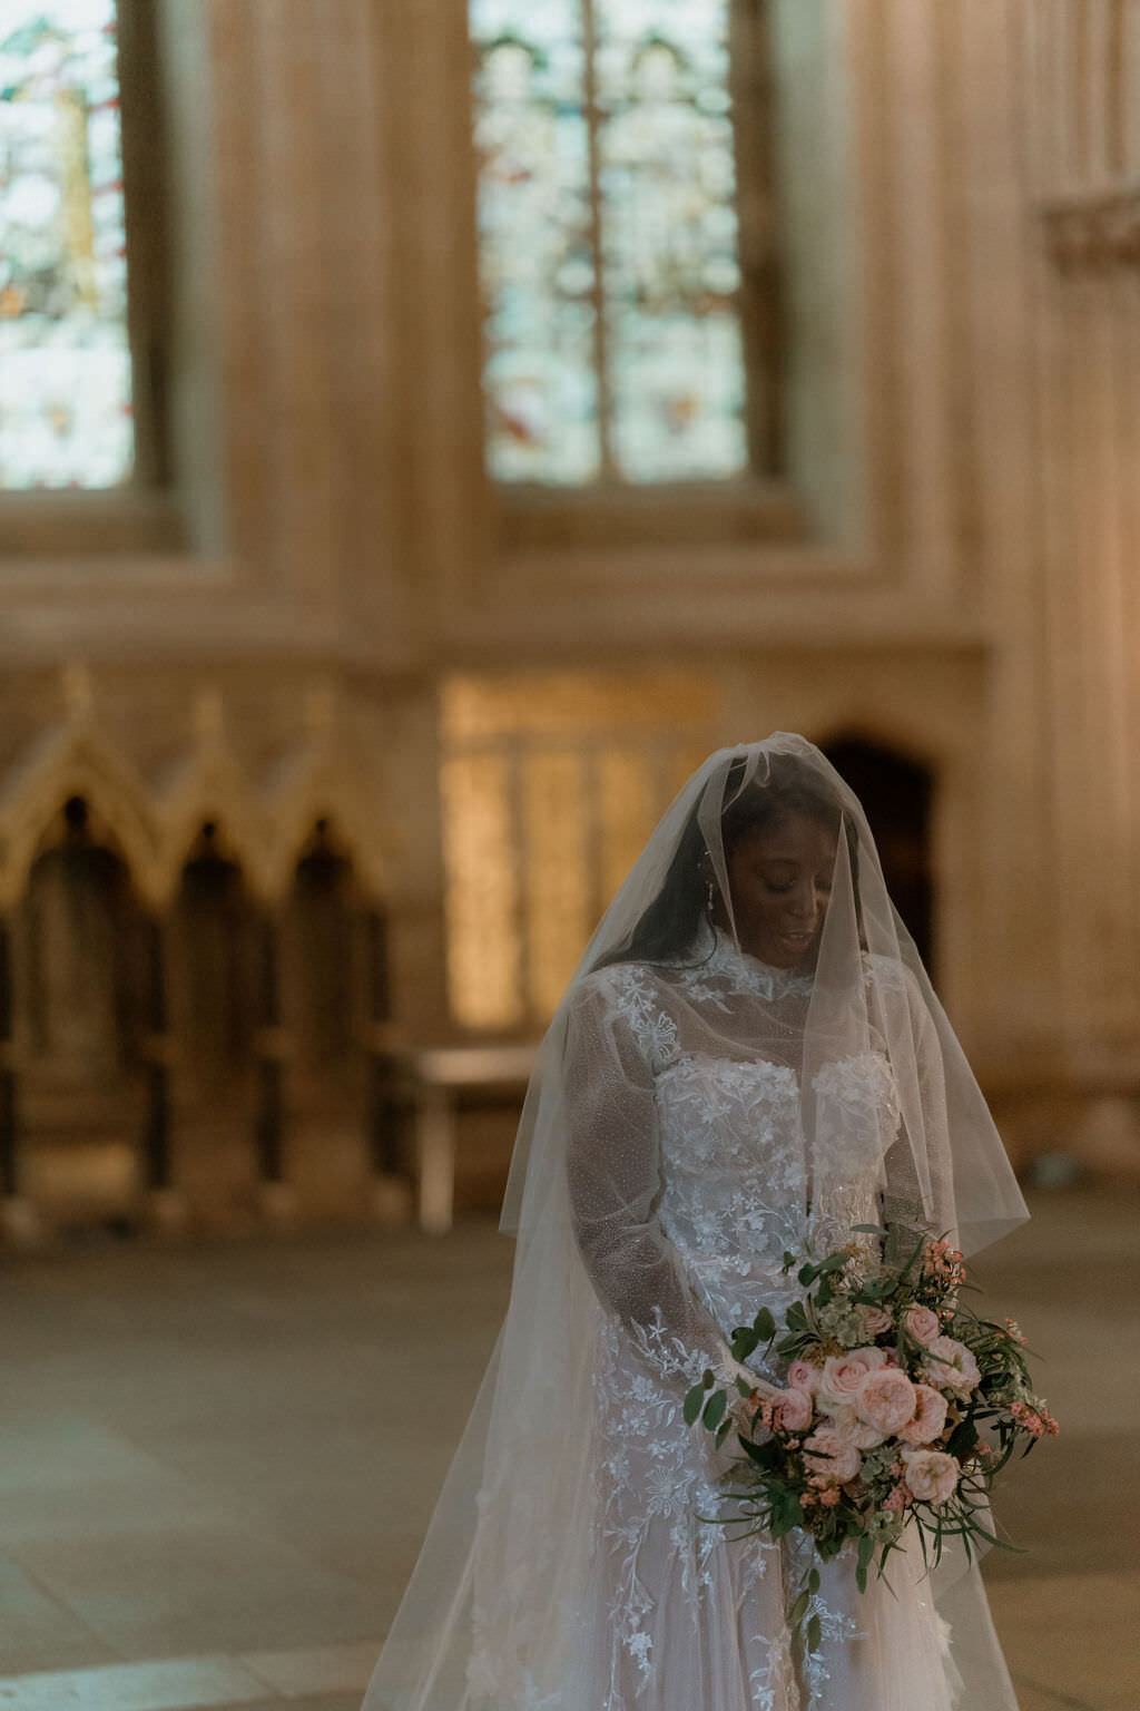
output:
{"label": "bouquet of pink roses and greenery held by the bride", "polygon": [[[870,1225],[856,1234],[885,1235]],[[1000,1545],[990,1521],[996,1473],[1015,1449],[1027,1454],[1058,1430],[1032,1393],[1017,1324],[961,1302],[973,1285],[947,1240],[920,1240],[901,1266],[853,1242],[824,1259],[784,1254],[784,1275],[793,1268],[805,1294],[783,1331],[762,1309],[732,1345],[740,1362],[774,1345],[786,1388],[761,1393],[737,1379],[733,1394],[708,1371],[685,1396],[685,1420],[702,1420],[718,1446],[738,1432],[732,1523],[773,1538],[802,1528],[822,1562],[855,1542],[860,1591],[904,1533],[928,1564],[949,1538],[967,1557],[983,1540]],[[808,1651],[820,1641],[808,1615],[819,1584],[815,1566],[788,1612]]]}

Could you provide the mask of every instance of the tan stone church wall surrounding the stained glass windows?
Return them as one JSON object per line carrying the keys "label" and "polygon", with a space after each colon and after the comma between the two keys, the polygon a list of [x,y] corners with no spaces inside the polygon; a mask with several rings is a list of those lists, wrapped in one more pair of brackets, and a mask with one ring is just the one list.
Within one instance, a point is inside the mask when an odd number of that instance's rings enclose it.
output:
{"label": "tan stone church wall surrounding the stained glass windows", "polygon": [[933,772],[940,984],[1014,1145],[1128,1174],[1140,3],[764,10],[781,476],[555,500],[482,472],[461,0],[164,0],[174,483],[0,501],[0,907],[72,799],[152,919],[203,825],[275,910],[326,821],[393,1018],[455,1039],[439,686],[697,672],[711,739]]}

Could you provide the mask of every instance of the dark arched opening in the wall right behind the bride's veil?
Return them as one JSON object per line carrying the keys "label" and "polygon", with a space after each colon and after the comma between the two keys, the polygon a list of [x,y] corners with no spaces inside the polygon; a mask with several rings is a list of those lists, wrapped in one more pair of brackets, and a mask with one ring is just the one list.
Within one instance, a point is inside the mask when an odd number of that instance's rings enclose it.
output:
{"label": "dark arched opening in the wall right behind the bride's veil", "polygon": [[863,802],[890,898],[926,965],[937,962],[933,802],[937,772],[913,744],[844,724],[819,744]]}

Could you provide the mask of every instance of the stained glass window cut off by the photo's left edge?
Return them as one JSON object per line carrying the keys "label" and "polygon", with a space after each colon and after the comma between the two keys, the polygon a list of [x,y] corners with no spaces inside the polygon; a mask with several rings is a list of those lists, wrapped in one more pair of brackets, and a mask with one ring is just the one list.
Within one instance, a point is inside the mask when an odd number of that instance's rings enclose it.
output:
{"label": "stained glass window cut off by the photo's left edge", "polygon": [[115,12],[0,5],[0,488],[132,472]]}

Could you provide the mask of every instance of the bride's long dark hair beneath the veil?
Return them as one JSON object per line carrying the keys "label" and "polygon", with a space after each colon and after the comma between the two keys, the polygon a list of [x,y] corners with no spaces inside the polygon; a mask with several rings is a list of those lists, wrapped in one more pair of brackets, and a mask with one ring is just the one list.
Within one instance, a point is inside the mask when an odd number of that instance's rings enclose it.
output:
{"label": "bride's long dark hair beneath the veil", "polygon": [[[831,832],[841,823],[851,856],[858,919],[858,828],[843,811],[839,799],[819,773],[810,772],[795,755],[773,755],[762,784],[750,782],[740,789],[743,775],[743,760],[735,760],[725,775],[726,806],[721,808],[725,859],[730,859],[745,838],[778,826],[786,814],[805,814]],[[701,922],[708,919],[708,847],[699,814],[697,802],[680,833],[661,890],[646,905],[627,939],[600,956],[595,968],[608,968],[610,963],[620,962],[675,963],[690,956]]]}

